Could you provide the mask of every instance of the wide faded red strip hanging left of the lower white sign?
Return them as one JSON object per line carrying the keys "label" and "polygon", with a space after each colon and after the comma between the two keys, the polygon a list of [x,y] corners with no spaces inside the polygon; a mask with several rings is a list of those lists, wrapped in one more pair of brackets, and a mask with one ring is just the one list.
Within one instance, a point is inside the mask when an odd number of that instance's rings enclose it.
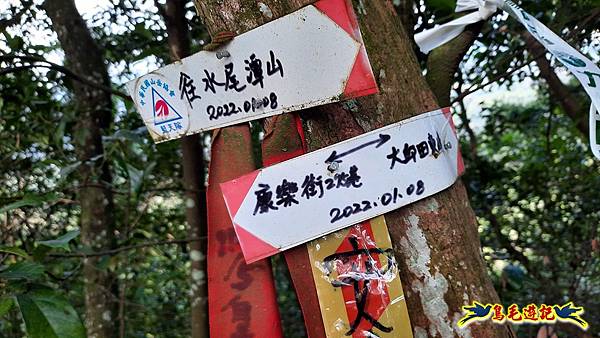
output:
{"label": "wide faded red strip hanging left of the lower white sign", "polygon": [[282,337],[269,260],[246,264],[220,183],[254,171],[247,125],[215,135],[209,168],[208,308],[211,337]]}

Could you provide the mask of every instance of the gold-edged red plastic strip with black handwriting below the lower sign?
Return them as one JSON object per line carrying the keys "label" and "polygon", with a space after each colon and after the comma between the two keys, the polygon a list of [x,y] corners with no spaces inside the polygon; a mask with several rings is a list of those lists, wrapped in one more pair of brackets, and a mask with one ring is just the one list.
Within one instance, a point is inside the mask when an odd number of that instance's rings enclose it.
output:
{"label": "gold-edged red plastic strip with black handwriting below the lower sign", "polygon": [[308,244],[327,337],[412,337],[385,220]]}

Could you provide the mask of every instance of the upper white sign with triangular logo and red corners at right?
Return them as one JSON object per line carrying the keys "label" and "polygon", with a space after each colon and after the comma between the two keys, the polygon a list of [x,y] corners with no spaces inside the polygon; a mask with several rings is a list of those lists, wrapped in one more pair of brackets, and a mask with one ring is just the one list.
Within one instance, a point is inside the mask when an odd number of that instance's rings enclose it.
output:
{"label": "upper white sign with triangular logo and red corners at right", "polygon": [[127,84],[156,142],[345,98],[377,85],[346,0],[321,0]]}

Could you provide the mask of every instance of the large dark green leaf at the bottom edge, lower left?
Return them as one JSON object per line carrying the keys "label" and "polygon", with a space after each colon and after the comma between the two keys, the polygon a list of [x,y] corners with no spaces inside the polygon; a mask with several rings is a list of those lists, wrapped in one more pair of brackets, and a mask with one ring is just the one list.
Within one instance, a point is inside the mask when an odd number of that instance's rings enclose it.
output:
{"label": "large dark green leaf at the bottom edge, lower left", "polygon": [[85,328],[75,309],[61,295],[39,289],[17,296],[27,336],[30,338],[85,338]]}

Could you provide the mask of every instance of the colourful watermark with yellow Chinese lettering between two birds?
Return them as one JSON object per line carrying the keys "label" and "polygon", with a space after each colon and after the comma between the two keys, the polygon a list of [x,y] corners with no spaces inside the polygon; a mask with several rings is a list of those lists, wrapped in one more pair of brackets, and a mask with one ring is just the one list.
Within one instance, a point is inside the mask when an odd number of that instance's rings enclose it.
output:
{"label": "colourful watermark with yellow Chinese lettering between two birds", "polygon": [[577,307],[573,302],[564,305],[529,304],[522,309],[512,304],[504,308],[501,304],[481,304],[473,302],[463,306],[464,316],[458,321],[459,327],[465,327],[473,322],[491,320],[503,324],[509,321],[513,324],[554,324],[556,322],[573,324],[587,330],[588,323],[581,318],[583,307]]}

